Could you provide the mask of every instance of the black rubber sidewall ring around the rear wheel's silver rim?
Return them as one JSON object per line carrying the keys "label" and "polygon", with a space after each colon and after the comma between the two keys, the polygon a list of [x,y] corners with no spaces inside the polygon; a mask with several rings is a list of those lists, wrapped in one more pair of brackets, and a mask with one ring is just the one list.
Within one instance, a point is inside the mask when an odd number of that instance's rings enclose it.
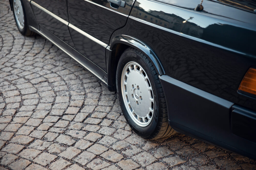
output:
{"label": "black rubber sidewall ring around the rear wheel's silver rim", "polygon": [[[154,114],[153,114],[153,119],[150,122],[150,124],[146,127],[141,127],[137,125],[130,117],[129,113],[126,110],[123,96],[122,96],[122,90],[121,90],[121,77],[122,77],[122,71],[124,66],[130,62],[134,61],[140,64],[140,66],[144,69],[146,72],[148,79],[151,83],[152,90],[153,90],[153,95],[154,95]],[[125,51],[122,56],[119,59],[118,62],[118,67],[117,67],[117,72],[116,72],[116,89],[118,91],[118,96],[121,104],[121,109],[124,113],[125,119],[128,122],[128,124],[131,126],[131,128],[138,134],[140,134],[142,137],[149,137],[151,134],[154,133],[156,126],[158,124],[158,94],[157,94],[157,89],[156,89],[156,82],[154,81],[154,77],[152,74],[152,71],[150,70],[148,64],[146,63],[145,58],[142,58],[140,55],[133,51]]]}

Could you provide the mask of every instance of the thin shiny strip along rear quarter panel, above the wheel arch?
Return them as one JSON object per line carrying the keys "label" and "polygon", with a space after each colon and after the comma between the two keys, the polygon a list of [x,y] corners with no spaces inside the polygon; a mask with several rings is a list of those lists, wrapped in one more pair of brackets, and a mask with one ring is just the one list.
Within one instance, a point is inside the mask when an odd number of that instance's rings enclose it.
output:
{"label": "thin shiny strip along rear quarter panel, above the wheel arch", "polygon": [[155,25],[155,24],[153,24],[153,23],[151,23],[151,22],[144,21],[144,20],[142,20],[142,19],[139,19],[139,18],[136,18],[136,17],[133,17],[133,16],[129,16],[129,18],[131,18],[131,19],[133,19],[133,20],[136,20],[136,21],[138,21],[138,22],[142,22],[142,23],[147,24],[147,25],[151,25],[152,27],[159,28],[159,29],[168,31],[168,32],[170,32],[170,33],[173,33],[173,34],[176,34],[176,35],[180,35],[180,36],[183,36],[183,37],[186,37],[186,38],[189,38],[189,39],[192,39],[192,40],[201,42],[201,43],[205,43],[205,44],[208,44],[208,45],[212,45],[212,46],[215,46],[215,47],[218,47],[218,48],[222,48],[222,49],[225,49],[225,50],[229,50],[229,51],[232,51],[232,52],[235,52],[235,53],[239,53],[239,54],[242,54],[242,55],[248,55],[248,54],[242,53],[242,52],[240,52],[240,51],[233,50],[233,49],[231,49],[231,48],[227,48],[227,47],[224,47],[224,46],[221,46],[221,45],[218,45],[218,44],[211,43],[211,42],[206,41],[206,40],[202,40],[202,39],[197,38],[197,37],[193,37],[193,36],[191,36],[191,35],[183,34],[183,33],[181,33],[181,32],[173,31],[173,30],[170,30],[170,29],[168,29],[168,28],[164,28],[164,27],[161,27],[161,26],[159,26],[159,25]]}

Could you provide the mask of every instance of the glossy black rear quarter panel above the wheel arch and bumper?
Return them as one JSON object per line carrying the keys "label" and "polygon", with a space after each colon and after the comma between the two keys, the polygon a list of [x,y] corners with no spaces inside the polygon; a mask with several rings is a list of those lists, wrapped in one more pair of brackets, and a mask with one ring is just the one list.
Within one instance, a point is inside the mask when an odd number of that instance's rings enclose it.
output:
{"label": "glossy black rear quarter panel above the wheel arch and bumper", "polygon": [[256,100],[237,89],[256,65],[256,15],[211,1],[204,1],[201,12],[191,1],[168,2],[176,3],[137,0],[125,27],[112,38],[126,34],[147,42],[166,75],[255,110]]}

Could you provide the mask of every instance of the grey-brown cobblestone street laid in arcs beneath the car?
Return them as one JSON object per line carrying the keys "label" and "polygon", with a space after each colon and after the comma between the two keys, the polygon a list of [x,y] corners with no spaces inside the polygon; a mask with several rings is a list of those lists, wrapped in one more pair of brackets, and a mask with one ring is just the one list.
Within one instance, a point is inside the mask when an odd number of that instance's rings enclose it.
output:
{"label": "grey-brown cobblestone street laid in arcs beneath the car", "polygon": [[179,133],[136,135],[115,92],[45,38],[19,33],[8,0],[0,2],[0,113],[0,169],[256,169]]}

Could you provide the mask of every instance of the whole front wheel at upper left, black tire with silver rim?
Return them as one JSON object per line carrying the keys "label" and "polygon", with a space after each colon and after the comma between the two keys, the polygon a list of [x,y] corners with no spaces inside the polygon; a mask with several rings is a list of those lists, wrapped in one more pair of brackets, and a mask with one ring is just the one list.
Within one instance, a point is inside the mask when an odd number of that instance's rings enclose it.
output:
{"label": "whole front wheel at upper left, black tire with silver rim", "polygon": [[29,30],[28,22],[26,18],[26,12],[25,12],[22,0],[11,0],[11,1],[13,5],[13,16],[19,32],[25,36],[35,35],[35,32]]}

